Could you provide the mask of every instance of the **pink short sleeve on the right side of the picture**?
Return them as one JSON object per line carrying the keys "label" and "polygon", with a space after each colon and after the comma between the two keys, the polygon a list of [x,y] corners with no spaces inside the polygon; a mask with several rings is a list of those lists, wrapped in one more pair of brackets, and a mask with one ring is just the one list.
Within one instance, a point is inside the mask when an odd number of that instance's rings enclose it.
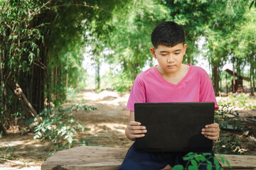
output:
{"label": "pink short sleeve on the right side of the picture", "polygon": [[204,71],[201,77],[199,101],[213,101],[215,102],[215,111],[218,110],[218,103],[215,98],[213,84],[206,71]]}

